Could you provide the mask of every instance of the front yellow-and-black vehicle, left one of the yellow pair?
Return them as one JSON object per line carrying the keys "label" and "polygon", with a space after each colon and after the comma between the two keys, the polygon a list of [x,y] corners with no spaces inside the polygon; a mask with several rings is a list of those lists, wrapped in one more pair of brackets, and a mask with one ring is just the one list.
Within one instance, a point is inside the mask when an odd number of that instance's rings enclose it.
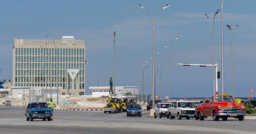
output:
{"label": "front yellow-and-black vehicle, left one of the yellow pair", "polygon": [[110,96],[108,99],[108,103],[104,106],[104,113],[106,112],[122,112],[122,99],[119,97]]}

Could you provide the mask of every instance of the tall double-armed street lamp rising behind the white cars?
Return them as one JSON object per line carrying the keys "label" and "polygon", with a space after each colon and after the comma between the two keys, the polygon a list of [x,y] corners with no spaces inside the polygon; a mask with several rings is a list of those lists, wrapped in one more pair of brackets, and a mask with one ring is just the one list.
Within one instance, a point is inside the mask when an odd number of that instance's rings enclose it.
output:
{"label": "tall double-armed street lamp rising behind the white cars", "polygon": [[[138,5],[138,7],[140,7],[141,9],[145,9],[147,11],[147,14],[150,18],[150,22],[151,22],[151,26],[152,26],[152,55],[153,55],[153,58],[152,58],[152,74],[154,74],[154,70],[155,70],[155,23],[156,23],[156,19],[158,18],[158,15],[159,15],[159,12],[162,10],[162,9],[166,9],[167,7],[169,7],[170,5],[166,5],[164,7],[160,7],[159,11],[158,11],[158,14],[156,14],[156,17],[155,17],[155,20],[154,22],[152,21],[151,19],[151,16],[150,16],[150,13],[149,11],[147,10],[146,7],[143,7],[141,5]],[[152,106],[154,107],[155,106],[155,78],[152,76]]]}

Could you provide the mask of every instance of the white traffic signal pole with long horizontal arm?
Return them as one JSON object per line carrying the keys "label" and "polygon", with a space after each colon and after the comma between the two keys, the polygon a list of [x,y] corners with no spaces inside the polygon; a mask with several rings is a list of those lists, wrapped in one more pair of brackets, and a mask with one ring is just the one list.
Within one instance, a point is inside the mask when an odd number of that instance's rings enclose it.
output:
{"label": "white traffic signal pole with long horizontal arm", "polygon": [[[215,87],[216,87],[216,91],[213,91],[213,96],[214,95],[218,95],[218,64],[214,64],[214,65],[211,65],[211,64],[178,64],[178,65],[183,65],[183,66],[203,66],[203,67],[206,67],[206,66],[214,66],[215,67]],[[214,89],[213,89],[214,90]]]}

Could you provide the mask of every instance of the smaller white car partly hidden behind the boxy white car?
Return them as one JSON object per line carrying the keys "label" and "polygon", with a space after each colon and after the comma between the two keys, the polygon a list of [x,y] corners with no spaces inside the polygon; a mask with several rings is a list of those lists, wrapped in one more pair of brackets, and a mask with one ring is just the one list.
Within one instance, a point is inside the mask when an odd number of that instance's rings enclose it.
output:
{"label": "smaller white car partly hidden behind the boxy white car", "polygon": [[162,117],[169,118],[168,107],[170,107],[170,106],[171,106],[170,103],[162,103],[162,102],[156,103],[154,118],[156,118],[156,116],[159,116],[159,118],[162,118]]}

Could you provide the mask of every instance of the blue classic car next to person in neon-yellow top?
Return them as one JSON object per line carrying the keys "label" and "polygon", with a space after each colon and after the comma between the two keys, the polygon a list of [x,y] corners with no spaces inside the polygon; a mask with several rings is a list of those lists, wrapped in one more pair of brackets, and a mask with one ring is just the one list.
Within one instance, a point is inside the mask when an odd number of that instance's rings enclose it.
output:
{"label": "blue classic car next to person in neon-yellow top", "polygon": [[48,108],[46,102],[30,102],[27,105],[27,109],[25,111],[25,116],[27,121],[34,119],[43,119],[43,120],[51,120],[51,112],[52,110]]}

